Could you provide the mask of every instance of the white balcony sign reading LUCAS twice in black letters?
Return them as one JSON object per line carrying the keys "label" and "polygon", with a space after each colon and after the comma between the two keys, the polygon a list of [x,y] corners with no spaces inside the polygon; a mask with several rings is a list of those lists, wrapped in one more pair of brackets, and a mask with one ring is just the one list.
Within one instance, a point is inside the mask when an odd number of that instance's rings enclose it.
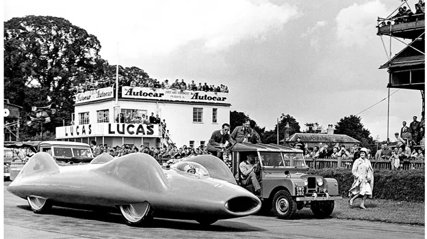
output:
{"label": "white balcony sign reading LUCAS twice in black letters", "polygon": [[94,136],[158,137],[159,135],[158,124],[98,123],[56,128],[57,139]]}

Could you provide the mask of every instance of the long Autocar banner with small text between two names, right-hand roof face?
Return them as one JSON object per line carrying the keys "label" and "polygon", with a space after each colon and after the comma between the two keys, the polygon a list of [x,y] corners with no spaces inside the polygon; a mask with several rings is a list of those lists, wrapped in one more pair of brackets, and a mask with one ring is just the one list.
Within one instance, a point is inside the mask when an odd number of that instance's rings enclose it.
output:
{"label": "long Autocar banner with small text between two names, right-hand roof face", "polygon": [[122,98],[227,103],[228,93],[124,86]]}

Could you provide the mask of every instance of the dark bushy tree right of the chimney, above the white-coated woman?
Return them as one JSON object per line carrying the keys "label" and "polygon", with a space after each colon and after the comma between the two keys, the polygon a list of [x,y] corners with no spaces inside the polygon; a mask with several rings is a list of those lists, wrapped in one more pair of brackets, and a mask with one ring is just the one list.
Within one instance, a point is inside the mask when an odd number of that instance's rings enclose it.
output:
{"label": "dark bushy tree right of the chimney, above the white-coated woman", "polygon": [[370,131],[363,127],[361,117],[356,115],[346,116],[339,119],[335,125],[335,133],[338,135],[348,135],[361,141],[362,147],[370,147],[374,139],[370,137]]}

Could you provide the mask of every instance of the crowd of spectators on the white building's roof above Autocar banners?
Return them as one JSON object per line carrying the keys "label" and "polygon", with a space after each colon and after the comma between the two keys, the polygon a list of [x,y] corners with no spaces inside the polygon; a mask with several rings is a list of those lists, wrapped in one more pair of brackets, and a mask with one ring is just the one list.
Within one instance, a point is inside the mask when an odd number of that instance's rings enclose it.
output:
{"label": "crowd of spectators on the white building's roof above Autocar banners", "polygon": [[[100,81],[95,81],[94,79],[91,79],[88,81],[88,83],[80,83],[76,87],[76,92],[87,92],[94,89],[99,89],[103,87],[113,87],[116,83],[115,79],[105,79]],[[191,83],[185,83],[184,79],[177,79],[174,83],[169,83],[169,80],[166,79],[163,82],[158,81],[157,79],[144,79],[144,78],[135,78],[131,80],[126,80],[124,77],[119,77],[118,79],[118,85],[119,86],[131,86],[131,87],[149,87],[149,88],[161,88],[161,89],[179,89],[179,90],[192,90],[192,91],[199,91],[199,92],[223,92],[223,93],[229,93],[229,87],[227,85],[207,85],[205,83],[202,85],[202,83],[194,83],[192,81]]]}

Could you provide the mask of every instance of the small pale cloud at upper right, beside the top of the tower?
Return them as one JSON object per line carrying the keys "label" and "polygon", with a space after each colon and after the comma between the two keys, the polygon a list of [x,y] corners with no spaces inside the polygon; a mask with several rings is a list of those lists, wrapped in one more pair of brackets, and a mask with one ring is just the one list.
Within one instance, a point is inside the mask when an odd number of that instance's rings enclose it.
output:
{"label": "small pale cloud at upper right, beside the top of the tower", "polygon": [[337,14],[337,40],[342,46],[365,46],[376,38],[376,19],[386,17],[393,10],[380,3],[369,1],[358,5],[354,3]]}

